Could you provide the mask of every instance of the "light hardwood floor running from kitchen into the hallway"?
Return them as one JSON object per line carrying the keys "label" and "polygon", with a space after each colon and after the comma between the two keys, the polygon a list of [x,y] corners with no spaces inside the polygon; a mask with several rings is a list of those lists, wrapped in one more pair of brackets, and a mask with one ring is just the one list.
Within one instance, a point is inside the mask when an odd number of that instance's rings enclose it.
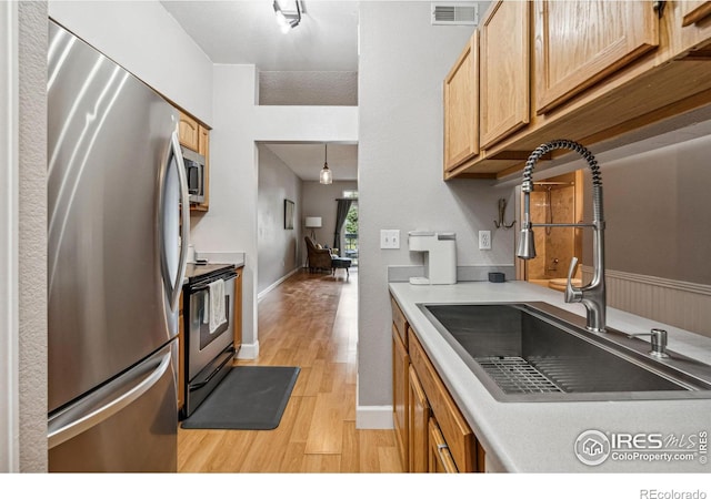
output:
{"label": "light hardwood floor running from kitchen into the hallway", "polygon": [[299,366],[274,430],[178,430],[180,472],[401,472],[392,430],[356,428],[358,273],[299,272],[259,303],[260,356]]}

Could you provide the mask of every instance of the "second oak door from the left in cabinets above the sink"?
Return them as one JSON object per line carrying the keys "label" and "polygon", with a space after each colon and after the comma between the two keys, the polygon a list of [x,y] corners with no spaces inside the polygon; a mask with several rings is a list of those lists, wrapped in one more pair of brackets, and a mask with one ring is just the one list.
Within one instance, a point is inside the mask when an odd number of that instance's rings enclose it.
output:
{"label": "second oak door from the left in cabinets above the sink", "polygon": [[492,6],[480,32],[481,147],[505,139],[530,121],[530,7]]}

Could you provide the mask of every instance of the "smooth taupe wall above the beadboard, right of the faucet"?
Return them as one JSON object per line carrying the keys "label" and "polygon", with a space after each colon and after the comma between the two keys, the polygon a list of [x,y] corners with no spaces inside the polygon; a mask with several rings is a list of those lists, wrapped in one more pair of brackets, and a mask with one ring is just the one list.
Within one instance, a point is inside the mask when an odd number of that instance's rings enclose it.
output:
{"label": "smooth taupe wall above the beadboard, right of the faucet", "polygon": [[[711,285],[710,156],[711,136],[701,136],[600,162],[608,269]],[[585,194],[590,182],[585,171]],[[583,248],[592,262],[591,231]]]}

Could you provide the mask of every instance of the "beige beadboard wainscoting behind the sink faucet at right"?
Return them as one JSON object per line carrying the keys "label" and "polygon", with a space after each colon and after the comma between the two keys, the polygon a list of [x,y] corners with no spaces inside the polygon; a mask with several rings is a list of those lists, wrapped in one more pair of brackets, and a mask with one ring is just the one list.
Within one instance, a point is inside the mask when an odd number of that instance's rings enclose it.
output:
{"label": "beige beadboard wainscoting behind the sink faucet at right", "polygon": [[[592,268],[583,266],[583,282]],[[711,286],[605,271],[608,306],[711,337]]]}

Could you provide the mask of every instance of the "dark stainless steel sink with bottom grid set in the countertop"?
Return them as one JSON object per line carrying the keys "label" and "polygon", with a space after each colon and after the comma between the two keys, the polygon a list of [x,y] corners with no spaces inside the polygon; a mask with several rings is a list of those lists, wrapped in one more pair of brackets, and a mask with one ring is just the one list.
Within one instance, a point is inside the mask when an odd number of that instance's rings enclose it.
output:
{"label": "dark stainless steel sink with bottom grid set in the countertop", "polygon": [[545,303],[419,307],[500,401],[711,398],[711,366]]}

